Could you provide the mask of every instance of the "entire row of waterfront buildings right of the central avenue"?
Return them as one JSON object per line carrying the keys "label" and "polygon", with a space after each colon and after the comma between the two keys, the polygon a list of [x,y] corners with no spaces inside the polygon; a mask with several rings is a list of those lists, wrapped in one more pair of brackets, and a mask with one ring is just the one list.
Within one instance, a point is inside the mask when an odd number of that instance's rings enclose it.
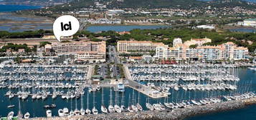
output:
{"label": "entire row of waterfront buildings right of the central avenue", "polygon": [[[174,39],[173,46],[151,41],[118,41],[118,51],[129,53],[132,51],[156,51],[155,59],[204,59],[204,60],[242,60],[247,59],[248,49],[237,46],[232,42],[218,46],[204,46],[212,42],[211,39],[191,39],[182,43],[181,39]],[[196,45],[195,48],[189,46]]]}

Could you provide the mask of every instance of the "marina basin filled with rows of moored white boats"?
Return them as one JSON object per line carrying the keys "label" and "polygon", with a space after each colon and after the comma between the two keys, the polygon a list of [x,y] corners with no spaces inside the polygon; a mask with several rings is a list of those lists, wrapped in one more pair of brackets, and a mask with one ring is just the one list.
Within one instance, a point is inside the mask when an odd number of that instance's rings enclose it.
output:
{"label": "marina basin filled with rows of moored white boats", "polygon": [[[126,74],[131,79],[124,80],[125,90],[120,92],[114,91],[113,85],[90,84],[90,65],[18,66],[11,62],[1,63],[1,104],[6,107],[1,116],[22,113],[22,118],[90,117],[173,112],[255,97],[255,71],[230,64],[127,66]],[[159,93],[163,95],[152,95]]]}

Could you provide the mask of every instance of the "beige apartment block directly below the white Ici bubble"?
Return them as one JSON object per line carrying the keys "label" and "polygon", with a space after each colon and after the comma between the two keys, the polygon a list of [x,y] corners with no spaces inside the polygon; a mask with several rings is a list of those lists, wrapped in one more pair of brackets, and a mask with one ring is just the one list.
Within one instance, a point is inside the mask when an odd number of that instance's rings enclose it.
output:
{"label": "beige apartment block directly below the white Ici bubble", "polygon": [[53,42],[44,46],[46,54],[74,54],[76,61],[104,62],[106,43],[105,41],[74,41]]}

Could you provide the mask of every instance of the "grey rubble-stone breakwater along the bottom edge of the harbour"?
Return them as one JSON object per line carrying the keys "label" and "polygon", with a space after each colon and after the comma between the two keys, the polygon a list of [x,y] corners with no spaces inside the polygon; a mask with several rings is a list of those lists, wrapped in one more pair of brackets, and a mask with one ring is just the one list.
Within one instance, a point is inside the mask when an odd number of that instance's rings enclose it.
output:
{"label": "grey rubble-stone breakwater along the bottom edge of the harbour", "polygon": [[242,109],[248,105],[256,104],[256,98],[243,99],[237,101],[224,101],[217,104],[208,104],[204,106],[187,106],[183,109],[165,110],[165,111],[139,111],[129,113],[113,113],[113,114],[98,114],[86,116],[72,116],[72,117],[52,117],[52,118],[32,118],[33,120],[109,120],[109,119],[161,119],[161,120],[176,120],[185,119],[189,116],[196,116],[200,114],[209,114],[219,111],[228,111],[232,109]]}

